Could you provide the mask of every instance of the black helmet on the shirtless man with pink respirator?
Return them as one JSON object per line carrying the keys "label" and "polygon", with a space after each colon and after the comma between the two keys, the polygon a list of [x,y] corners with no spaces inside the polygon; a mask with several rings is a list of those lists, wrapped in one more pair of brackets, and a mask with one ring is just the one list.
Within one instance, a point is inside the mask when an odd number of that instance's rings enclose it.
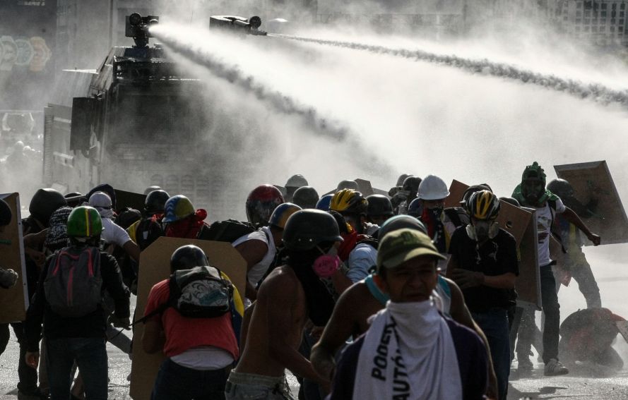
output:
{"label": "black helmet on the shirtless man with pink respirator", "polygon": [[311,250],[319,243],[342,240],[336,219],[321,210],[297,211],[283,229],[283,243],[288,250]]}

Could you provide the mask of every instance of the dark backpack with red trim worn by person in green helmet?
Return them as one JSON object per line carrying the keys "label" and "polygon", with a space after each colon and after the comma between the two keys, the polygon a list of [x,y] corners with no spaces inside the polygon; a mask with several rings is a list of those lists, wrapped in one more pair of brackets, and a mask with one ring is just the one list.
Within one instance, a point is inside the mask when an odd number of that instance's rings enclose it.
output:
{"label": "dark backpack with red trim worn by person in green helmet", "polygon": [[52,311],[61,317],[93,313],[102,303],[100,250],[71,246],[57,251],[48,267],[44,292]]}

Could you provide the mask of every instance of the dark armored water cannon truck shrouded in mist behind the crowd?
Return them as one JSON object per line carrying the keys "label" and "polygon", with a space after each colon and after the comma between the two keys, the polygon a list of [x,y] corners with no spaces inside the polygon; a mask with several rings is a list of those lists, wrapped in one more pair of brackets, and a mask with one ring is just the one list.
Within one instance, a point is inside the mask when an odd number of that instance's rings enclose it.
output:
{"label": "dark armored water cannon truck shrouded in mist behind the crowd", "polygon": [[196,207],[211,205],[212,217],[224,219],[237,214],[226,182],[248,170],[221,151],[232,132],[214,107],[218,94],[177,54],[148,46],[158,20],[128,16],[135,47],[113,47],[95,70],[59,74],[45,107],[44,180],[63,193],[99,183],[138,193],[160,186]]}

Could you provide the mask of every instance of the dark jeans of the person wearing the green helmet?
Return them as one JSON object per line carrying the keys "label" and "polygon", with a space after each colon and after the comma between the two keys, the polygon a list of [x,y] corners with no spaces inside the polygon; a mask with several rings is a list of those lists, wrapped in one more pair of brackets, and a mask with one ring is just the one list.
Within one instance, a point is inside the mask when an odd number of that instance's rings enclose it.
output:
{"label": "dark jeans of the person wearing the green helmet", "polygon": [[103,338],[46,339],[50,400],[68,400],[72,365],[83,377],[86,400],[107,400],[107,349]]}

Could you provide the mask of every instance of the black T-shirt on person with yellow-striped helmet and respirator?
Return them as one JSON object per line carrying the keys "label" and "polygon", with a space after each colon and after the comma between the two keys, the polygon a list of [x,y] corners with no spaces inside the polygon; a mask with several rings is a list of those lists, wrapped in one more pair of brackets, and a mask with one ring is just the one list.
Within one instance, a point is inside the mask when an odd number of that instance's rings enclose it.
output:
{"label": "black T-shirt on person with yellow-striped helmet and respirator", "polygon": [[[458,268],[482,272],[494,277],[512,272],[519,275],[519,257],[514,237],[504,229],[497,236],[482,243],[469,238],[466,226],[461,226],[451,236],[449,253],[458,262]],[[482,313],[490,308],[509,308],[513,305],[511,289],[497,289],[489,286],[475,286],[463,289],[465,302],[472,313]]]}

